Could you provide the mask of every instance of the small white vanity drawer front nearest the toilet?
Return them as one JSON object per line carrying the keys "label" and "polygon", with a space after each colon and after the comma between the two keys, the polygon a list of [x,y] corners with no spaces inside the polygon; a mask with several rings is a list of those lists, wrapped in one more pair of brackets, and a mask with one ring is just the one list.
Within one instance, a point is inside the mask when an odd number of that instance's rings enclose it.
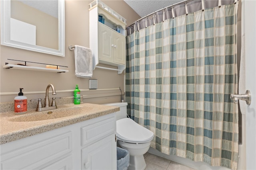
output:
{"label": "small white vanity drawer front nearest the toilet", "polygon": [[112,133],[116,133],[116,118],[110,117],[81,127],[81,145],[90,145]]}

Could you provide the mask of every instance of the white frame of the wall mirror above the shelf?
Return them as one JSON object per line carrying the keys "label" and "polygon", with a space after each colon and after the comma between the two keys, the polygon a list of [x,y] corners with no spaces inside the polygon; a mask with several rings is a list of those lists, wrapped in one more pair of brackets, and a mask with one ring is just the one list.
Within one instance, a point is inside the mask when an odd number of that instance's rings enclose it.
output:
{"label": "white frame of the wall mirror above the shelf", "polygon": [[59,15],[59,49],[50,49],[38,45],[31,45],[10,39],[10,18],[11,5],[10,0],[1,0],[1,45],[16,47],[40,53],[58,55],[65,57],[65,5],[64,0],[58,0]]}

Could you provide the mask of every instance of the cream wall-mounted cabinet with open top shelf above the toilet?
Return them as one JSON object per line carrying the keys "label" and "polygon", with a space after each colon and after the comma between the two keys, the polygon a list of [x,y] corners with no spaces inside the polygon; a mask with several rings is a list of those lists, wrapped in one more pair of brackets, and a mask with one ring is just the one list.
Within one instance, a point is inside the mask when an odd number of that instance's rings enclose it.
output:
{"label": "cream wall-mounted cabinet with open top shelf above the toilet", "polygon": [[[93,67],[98,63],[117,66],[120,74],[126,64],[126,20],[99,0],[89,5]],[[102,16],[104,23],[98,21],[99,16]],[[120,28],[120,33],[116,31],[116,27]]]}

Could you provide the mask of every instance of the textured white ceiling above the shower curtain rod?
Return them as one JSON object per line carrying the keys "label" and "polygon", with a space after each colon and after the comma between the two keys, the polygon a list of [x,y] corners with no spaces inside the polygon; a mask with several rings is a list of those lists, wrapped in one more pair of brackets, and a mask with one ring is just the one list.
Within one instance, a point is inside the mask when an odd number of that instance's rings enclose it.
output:
{"label": "textured white ceiling above the shower curtain rod", "polygon": [[141,17],[180,1],[182,0],[124,0]]}

